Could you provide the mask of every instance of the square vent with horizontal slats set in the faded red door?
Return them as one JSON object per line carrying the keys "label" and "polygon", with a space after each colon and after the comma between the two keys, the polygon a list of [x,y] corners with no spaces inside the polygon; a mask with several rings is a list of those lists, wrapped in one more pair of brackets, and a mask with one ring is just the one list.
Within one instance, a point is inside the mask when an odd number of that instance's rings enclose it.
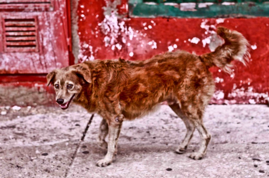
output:
{"label": "square vent with horizontal slats set in the faded red door", "polygon": [[6,52],[37,52],[35,18],[4,19],[4,48]]}

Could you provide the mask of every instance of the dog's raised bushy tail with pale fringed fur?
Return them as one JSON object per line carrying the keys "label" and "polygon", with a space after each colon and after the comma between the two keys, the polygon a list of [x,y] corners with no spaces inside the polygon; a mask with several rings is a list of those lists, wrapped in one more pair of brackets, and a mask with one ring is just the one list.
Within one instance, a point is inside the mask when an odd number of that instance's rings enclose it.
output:
{"label": "dog's raised bushy tail with pale fringed fur", "polygon": [[225,42],[217,47],[214,52],[203,54],[201,60],[207,67],[218,66],[224,72],[233,74],[233,60],[239,60],[245,66],[249,62],[248,48],[250,44],[246,38],[238,31],[232,31],[224,27],[218,27],[217,34],[222,37]]}

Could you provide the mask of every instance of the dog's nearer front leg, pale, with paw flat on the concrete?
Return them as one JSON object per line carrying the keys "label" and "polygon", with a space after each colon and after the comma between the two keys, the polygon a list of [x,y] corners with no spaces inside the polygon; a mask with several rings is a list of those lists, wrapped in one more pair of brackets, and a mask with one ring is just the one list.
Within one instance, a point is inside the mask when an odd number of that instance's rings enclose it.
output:
{"label": "dog's nearer front leg, pale, with paw flat on the concrete", "polygon": [[108,124],[108,149],[104,159],[97,162],[97,166],[106,167],[113,161],[114,154],[117,150],[119,133],[121,131],[122,122],[111,122]]}

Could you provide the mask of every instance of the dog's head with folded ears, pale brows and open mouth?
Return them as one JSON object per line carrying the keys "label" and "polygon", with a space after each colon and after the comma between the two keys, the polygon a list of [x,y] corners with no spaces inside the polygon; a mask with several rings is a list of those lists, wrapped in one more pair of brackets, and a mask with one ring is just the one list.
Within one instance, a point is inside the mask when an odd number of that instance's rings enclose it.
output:
{"label": "dog's head with folded ears, pale brows and open mouth", "polygon": [[81,93],[86,83],[91,83],[89,66],[81,63],[62,69],[56,69],[47,75],[47,86],[53,84],[56,102],[62,109],[67,109],[73,99]]}

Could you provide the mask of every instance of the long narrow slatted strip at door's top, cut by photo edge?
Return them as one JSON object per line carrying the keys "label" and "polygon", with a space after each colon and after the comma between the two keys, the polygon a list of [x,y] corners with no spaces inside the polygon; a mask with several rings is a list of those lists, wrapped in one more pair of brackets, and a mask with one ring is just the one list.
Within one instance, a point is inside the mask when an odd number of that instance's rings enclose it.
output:
{"label": "long narrow slatted strip at door's top, cut by photo edge", "polygon": [[51,10],[52,0],[0,0],[0,10]]}

